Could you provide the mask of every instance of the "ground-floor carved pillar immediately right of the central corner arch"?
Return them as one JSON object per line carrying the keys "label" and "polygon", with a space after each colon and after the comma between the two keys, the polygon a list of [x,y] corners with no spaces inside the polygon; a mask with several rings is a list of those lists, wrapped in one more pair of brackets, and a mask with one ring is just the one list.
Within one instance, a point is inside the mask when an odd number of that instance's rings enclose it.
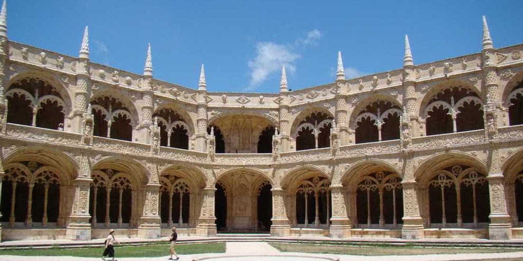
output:
{"label": "ground-floor carved pillar immediately right of the central corner arch", "polygon": [[272,236],[289,236],[291,227],[285,207],[285,191],[281,188],[272,188],[272,222],[270,234]]}

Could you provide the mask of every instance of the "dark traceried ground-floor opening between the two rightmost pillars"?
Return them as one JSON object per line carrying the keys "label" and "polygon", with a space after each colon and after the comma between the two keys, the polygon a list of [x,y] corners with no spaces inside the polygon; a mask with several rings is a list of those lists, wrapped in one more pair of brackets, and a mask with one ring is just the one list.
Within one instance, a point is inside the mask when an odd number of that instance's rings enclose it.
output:
{"label": "dark traceried ground-floor opening between the two rightmost pillars", "polygon": [[488,182],[477,168],[450,165],[436,171],[427,186],[429,225],[477,227],[488,222]]}

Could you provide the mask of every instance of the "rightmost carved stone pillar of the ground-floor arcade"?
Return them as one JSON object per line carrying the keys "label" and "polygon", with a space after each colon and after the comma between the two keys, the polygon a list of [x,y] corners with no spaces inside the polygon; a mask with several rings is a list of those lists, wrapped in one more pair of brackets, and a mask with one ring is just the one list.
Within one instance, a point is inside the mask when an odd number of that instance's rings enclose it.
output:
{"label": "rightmost carved stone pillar of the ground-floor arcade", "polygon": [[512,238],[512,224],[507,211],[505,195],[505,178],[501,173],[489,174],[488,192],[490,193],[491,213],[488,215],[491,223],[488,224],[488,238],[506,240]]}

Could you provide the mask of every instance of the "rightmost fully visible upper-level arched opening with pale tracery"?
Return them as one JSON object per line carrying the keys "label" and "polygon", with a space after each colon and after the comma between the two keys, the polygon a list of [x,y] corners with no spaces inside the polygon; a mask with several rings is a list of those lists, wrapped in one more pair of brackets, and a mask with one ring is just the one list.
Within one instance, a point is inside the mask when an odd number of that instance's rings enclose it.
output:
{"label": "rightmost fully visible upper-level arched opening with pale tracery", "polygon": [[424,110],[427,135],[482,129],[483,102],[471,89],[448,87],[436,93]]}

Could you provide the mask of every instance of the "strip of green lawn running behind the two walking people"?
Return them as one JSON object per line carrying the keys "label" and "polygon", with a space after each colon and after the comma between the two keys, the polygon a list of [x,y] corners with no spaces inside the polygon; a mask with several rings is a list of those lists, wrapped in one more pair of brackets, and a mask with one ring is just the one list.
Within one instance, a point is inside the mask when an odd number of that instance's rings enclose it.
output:
{"label": "strip of green lawn running behind the two walking people", "polygon": [[[157,257],[169,255],[169,244],[153,244],[140,246],[115,246],[115,257]],[[101,257],[104,247],[84,247],[73,249],[31,249],[31,250],[0,250],[0,255],[18,256],[81,256]],[[179,255],[225,253],[225,243],[176,245]]]}

